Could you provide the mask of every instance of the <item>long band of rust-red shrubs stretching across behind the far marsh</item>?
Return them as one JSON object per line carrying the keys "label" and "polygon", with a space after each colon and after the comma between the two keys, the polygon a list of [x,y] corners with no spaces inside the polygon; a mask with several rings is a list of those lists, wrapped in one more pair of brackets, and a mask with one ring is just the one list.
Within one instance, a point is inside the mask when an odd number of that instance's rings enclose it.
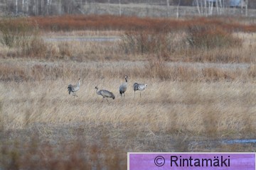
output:
{"label": "long band of rust-red shrubs stretching across behind the far marsh", "polygon": [[256,31],[255,25],[244,25],[226,18],[193,18],[176,20],[169,18],[138,18],[134,16],[48,16],[31,17],[43,30],[157,30],[186,29],[188,26],[220,26],[226,30]]}

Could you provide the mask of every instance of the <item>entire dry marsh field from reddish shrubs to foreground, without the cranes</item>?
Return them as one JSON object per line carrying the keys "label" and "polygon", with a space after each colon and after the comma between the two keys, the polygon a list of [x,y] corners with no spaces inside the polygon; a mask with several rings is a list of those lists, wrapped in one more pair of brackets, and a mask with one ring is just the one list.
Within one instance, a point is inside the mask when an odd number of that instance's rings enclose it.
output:
{"label": "entire dry marsh field from reddish shrubs to foreground, without the cranes", "polygon": [[[112,28],[51,30],[40,19],[19,39],[26,45],[0,46],[0,169],[126,169],[127,152],[255,152],[255,143],[222,141],[255,139],[256,26],[133,18],[122,27],[113,17]],[[68,95],[79,77],[78,97]],[[148,84],[142,97],[134,82]],[[114,100],[102,102],[95,86]]]}

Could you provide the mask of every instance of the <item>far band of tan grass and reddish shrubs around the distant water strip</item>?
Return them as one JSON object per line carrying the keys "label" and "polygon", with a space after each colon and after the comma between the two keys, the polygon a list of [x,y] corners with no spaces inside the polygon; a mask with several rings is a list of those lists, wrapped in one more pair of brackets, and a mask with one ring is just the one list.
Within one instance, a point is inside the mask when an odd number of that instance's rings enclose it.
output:
{"label": "far band of tan grass and reddish shrubs around the distant water strip", "polygon": [[[21,25],[24,24],[22,19],[11,19],[14,26],[16,21]],[[154,54],[161,55],[167,61],[255,62],[255,57],[252,55],[255,51],[251,43],[252,39],[247,40],[237,33],[238,30],[246,32],[247,27],[254,26],[233,20],[193,18],[178,21],[117,16],[56,16],[48,20],[28,18],[26,22],[28,26],[37,23],[36,28],[40,28],[46,37],[53,36],[54,29],[50,29],[53,25],[60,27],[57,29],[60,32],[56,35],[63,35],[63,30],[72,30],[70,35],[74,36],[75,32],[76,37],[100,34],[119,35],[121,41],[114,43],[44,42],[39,36],[23,43],[21,48],[4,50],[2,57],[37,57],[43,60],[65,59],[82,62],[85,60],[149,60],[146,55]],[[65,26],[71,28],[65,28]],[[82,30],[86,31],[82,32]],[[253,31],[255,30],[250,29],[249,32]],[[243,44],[249,41],[250,45],[244,47]]]}

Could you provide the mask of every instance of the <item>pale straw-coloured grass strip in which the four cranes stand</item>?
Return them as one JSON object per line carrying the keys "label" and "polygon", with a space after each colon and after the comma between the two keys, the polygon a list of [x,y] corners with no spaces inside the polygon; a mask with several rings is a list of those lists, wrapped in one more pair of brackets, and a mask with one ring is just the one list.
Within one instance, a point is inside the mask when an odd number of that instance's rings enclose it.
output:
{"label": "pale straw-coloured grass strip in which the four cranes stand", "polygon": [[[139,132],[144,137],[176,133],[215,138],[253,137],[256,93],[251,82],[220,81],[209,84],[130,77],[126,98],[123,99],[118,92],[122,81],[122,77],[82,77],[80,91],[76,93],[78,98],[68,95],[67,91],[67,84],[75,83],[75,79],[73,82],[58,79],[1,84],[1,94],[5,98],[2,125],[4,130],[46,125],[45,130],[40,128],[40,135],[46,140],[48,132],[54,134],[51,132],[54,128],[47,130],[50,124],[57,125],[56,128],[65,124],[88,126],[82,131],[85,136],[94,136],[97,127],[102,126],[110,130],[107,136],[111,140],[117,142],[119,139],[117,147],[127,148],[132,146],[124,140],[123,131]],[[142,98],[139,94],[134,97],[132,84],[135,81],[149,84],[142,91]],[[112,91],[116,98],[110,103],[102,102],[95,86]],[[146,147],[149,146],[143,145],[141,149]]]}

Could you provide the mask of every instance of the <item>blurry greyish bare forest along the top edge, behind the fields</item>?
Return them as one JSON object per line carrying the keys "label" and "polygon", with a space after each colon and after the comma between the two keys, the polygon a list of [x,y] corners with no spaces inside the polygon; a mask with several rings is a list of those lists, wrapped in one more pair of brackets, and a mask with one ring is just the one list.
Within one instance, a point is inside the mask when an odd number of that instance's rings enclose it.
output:
{"label": "blurry greyish bare forest along the top edge, behind the fields", "polygon": [[[85,6],[97,3],[119,4],[119,6],[122,4],[193,6],[195,1],[196,0],[0,0],[0,11],[2,12],[1,15],[48,16],[85,13]],[[230,0],[218,1],[225,1],[225,3],[227,3]],[[249,0],[247,7],[256,8],[256,1]]]}

